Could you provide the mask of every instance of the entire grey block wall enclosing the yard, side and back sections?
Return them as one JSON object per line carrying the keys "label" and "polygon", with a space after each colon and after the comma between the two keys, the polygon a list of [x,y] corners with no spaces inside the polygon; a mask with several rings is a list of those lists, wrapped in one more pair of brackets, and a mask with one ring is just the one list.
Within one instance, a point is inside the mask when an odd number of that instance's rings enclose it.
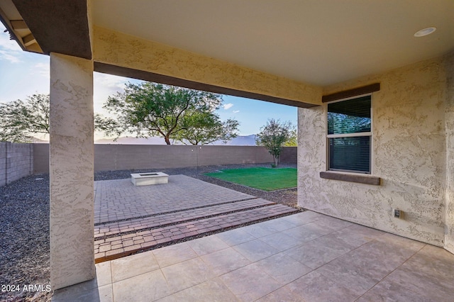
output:
{"label": "entire grey block wall enclosing the yard, side and back sections", "polygon": [[[94,145],[95,171],[271,162],[259,146]],[[282,148],[280,162],[296,164],[297,147]],[[40,173],[49,173],[49,144],[0,142],[0,186]]]}

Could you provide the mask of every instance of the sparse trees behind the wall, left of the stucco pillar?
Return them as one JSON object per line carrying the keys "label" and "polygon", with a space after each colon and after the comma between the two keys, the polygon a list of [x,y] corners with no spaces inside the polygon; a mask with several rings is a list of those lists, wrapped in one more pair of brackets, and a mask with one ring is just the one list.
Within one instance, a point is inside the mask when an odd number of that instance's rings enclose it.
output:
{"label": "sparse trees behind the wall, left of the stucco pillar", "polygon": [[0,140],[33,142],[33,135],[48,133],[48,94],[33,94],[26,102],[0,104]]}

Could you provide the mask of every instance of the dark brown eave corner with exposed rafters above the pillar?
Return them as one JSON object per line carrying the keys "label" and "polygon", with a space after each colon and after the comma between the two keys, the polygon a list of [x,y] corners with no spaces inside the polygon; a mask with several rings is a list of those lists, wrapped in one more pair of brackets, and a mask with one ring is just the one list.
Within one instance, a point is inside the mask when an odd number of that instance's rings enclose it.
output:
{"label": "dark brown eave corner with exposed rafters above the pillar", "polygon": [[87,1],[4,0],[0,16],[23,50],[92,58]]}

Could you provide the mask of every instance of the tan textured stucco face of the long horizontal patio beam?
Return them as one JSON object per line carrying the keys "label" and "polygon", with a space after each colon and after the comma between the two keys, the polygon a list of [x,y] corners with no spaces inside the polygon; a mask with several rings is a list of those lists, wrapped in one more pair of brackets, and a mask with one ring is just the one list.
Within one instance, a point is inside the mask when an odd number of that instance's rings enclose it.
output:
{"label": "tan textured stucco face of the long horizontal patio beam", "polygon": [[93,45],[96,62],[308,104],[321,104],[319,86],[277,77],[105,28],[94,27]]}

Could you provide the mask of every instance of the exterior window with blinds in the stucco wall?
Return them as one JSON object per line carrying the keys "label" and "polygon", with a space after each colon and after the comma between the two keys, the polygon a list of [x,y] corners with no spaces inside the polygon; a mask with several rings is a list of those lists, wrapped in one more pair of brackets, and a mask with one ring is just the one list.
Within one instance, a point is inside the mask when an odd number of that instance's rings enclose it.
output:
{"label": "exterior window with blinds in the stucco wall", "polygon": [[328,104],[328,170],[370,174],[371,96]]}

